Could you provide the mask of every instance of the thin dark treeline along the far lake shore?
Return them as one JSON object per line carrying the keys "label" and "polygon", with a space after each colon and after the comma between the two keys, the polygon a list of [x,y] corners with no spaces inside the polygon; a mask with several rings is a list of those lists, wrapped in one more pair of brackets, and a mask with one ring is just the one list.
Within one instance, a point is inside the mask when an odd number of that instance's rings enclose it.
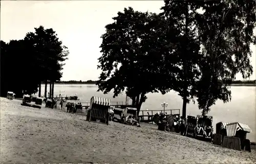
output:
{"label": "thin dark treeline along the far lake shore", "polygon": [[[76,80],[70,80],[70,81],[57,81],[56,84],[96,84],[97,81],[93,80],[87,80],[87,81],[76,81]],[[256,80],[236,80],[233,81],[232,84],[255,84]],[[44,84],[44,82],[42,82]]]}

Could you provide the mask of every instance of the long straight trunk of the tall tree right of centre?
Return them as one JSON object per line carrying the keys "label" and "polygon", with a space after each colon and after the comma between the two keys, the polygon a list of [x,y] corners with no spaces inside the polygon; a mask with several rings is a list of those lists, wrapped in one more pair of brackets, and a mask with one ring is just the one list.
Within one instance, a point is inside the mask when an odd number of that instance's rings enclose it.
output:
{"label": "long straight trunk of the tall tree right of centre", "polygon": [[182,105],[182,117],[186,118],[186,106],[187,106],[187,30],[188,30],[188,4],[186,2],[186,13],[185,13],[185,48],[183,53],[183,68],[184,68],[184,86],[183,86],[183,105]]}

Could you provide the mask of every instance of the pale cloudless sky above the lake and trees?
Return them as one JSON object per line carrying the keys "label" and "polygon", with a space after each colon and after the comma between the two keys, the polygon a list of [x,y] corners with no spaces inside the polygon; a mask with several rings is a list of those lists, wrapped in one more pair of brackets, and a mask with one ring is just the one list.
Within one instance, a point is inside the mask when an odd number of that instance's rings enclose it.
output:
{"label": "pale cloudless sky above the lake and trees", "polygon": [[[23,39],[40,25],[56,31],[63,45],[70,51],[63,66],[62,81],[97,80],[100,53],[100,36],[112,17],[126,7],[141,12],[160,13],[163,1],[1,1],[1,40]],[[254,33],[255,34],[255,33]],[[256,78],[256,51],[251,46],[253,74]],[[237,75],[237,80],[242,80]]]}

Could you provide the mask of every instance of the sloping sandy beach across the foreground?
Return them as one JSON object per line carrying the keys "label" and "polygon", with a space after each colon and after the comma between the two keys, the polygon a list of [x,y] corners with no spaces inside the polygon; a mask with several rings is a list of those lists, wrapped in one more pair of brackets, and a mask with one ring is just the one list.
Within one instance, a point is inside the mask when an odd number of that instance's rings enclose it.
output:
{"label": "sloping sandy beach across the foreground", "polygon": [[255,163],[251,153],[201,140],[21,106],[1,98],[1,163]]}

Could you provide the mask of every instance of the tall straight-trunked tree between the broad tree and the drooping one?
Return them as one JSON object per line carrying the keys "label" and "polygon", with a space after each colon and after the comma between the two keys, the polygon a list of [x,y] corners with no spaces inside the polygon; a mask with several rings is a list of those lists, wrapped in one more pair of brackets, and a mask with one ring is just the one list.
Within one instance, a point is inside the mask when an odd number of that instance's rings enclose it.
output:
{"label": "tall straight-trunked tree between the broad tree and the drooping one", "polygon": [[[199,77],[197,65],[200,58],[200,44],[197,38],[197,29],[195,29],[195,15],[201,2],[166,0],[164,3],[161,15],[168,21],[167,42],[175,45],[172,58],[169,60],[175,58],[177,61],[175,71],[172,67],[165,67],[166,70],[163,72],[166,74],[166,85],[162,91],[173,88],[179,93],[183,99],[182,116],[186,117],[186,104],[189,103],[191,96],[190,89]],[[171,35],[172,33],[176,35]],[[175,82],[168,82],[168,79],[174,77],[169,72],[175,74]]]}

